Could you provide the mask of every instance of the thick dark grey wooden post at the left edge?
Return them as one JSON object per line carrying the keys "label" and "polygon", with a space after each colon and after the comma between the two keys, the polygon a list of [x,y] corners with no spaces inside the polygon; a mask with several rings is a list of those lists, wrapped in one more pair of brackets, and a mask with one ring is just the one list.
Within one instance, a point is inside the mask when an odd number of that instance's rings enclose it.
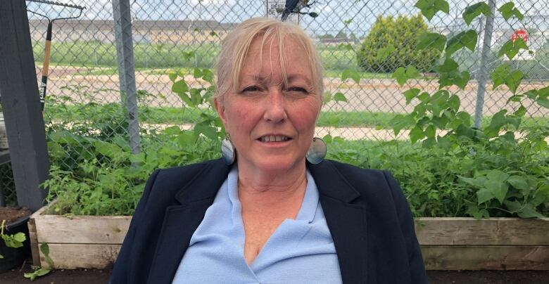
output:
{"label": "thick dark grey wooden post at the left edge", "polygon": [[49,159],[24,0],[0,1],[0,93],[17,200],[36,211]]}

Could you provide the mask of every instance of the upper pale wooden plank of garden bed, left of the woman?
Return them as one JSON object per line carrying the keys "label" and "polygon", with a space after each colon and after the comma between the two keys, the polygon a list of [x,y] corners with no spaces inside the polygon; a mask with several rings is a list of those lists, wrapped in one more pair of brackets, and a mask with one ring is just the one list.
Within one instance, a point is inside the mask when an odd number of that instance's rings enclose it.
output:
{"label": "upper pale wooden plank of garden bed, left of the woman", "polygon": [[121,244],[131,216],[35,217],[39,243]]}

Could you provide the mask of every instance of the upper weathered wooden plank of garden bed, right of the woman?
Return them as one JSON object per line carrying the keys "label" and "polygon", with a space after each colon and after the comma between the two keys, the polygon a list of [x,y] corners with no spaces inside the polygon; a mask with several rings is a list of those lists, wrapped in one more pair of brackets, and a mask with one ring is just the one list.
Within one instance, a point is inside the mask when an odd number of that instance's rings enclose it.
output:
{"label": "upper weathered wooden plank of garden bed, right of the woman", "polygon": [[549,218],[416,218],[421,245],[549,245]]}

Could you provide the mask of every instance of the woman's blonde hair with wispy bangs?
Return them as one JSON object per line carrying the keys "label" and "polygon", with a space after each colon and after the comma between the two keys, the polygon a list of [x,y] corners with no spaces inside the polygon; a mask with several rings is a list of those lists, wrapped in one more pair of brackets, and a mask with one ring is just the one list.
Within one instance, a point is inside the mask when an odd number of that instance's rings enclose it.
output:
{"label": "woman's blonde hair with wispy bangs", "polygon": [[322,101],[322,94],[324,93],[324,83],[322,81],[323,68],[313,40],[298,25],[272,18],[252,18],[245,20],[223,39],[221,52],[215,66],[217,76],[215,78],[216,91],[214,97],[222,103],[225,93],[230,89],[236,91],[239,84],[240,71],[248,55],[251,43],[254,39],[261,36],[263,37],[261,46],[265,44],[265,39],[267,38],[271,40],[270,44],[273,44],[273,41],[278,44],[280,68],[285,84],[288,82],[286,82],[286,67],[284,66],[286,58],[284,56],[284,39],[286,36],[291,36],[292,39],[296,40],[303,47],[309,61],[314,92],[320,96],[320,101]]}

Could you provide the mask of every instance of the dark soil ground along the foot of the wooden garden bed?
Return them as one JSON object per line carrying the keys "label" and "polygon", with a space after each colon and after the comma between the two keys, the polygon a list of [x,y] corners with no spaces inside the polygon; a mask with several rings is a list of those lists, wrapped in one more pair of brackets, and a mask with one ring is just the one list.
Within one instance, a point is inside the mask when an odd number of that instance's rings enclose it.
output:
{"label": "dark soil ground along the foot of the wooden garden bed", "polygon": [[[28,261],[30,262],[30,260]],[[30,284],[23,273],[31,272],[27,263],[23,269],[0,273],[2,284]],[[111,277],[111,270],[78,269],[56,270],[37,278],[37,284],[104,284]],[[549,271],[427,271],[431,284],[548,284]]]}

